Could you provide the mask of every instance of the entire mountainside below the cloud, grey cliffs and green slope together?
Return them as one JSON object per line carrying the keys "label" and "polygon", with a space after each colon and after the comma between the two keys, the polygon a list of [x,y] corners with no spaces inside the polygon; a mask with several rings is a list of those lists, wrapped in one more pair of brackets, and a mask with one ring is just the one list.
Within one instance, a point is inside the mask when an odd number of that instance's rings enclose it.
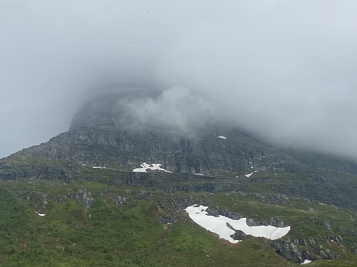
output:
{"label": "entire mountainside below the cloud, grey cliffs and green slope together", "polygon": [[[169,172],[134,172],[144,162]],[[98,120],[1,159],[0,262],[353,266],[356,166],[283,151],[222,123],[185,132]],[[183,209],[193,204],[291,231],[230,244],[189,219]]]}

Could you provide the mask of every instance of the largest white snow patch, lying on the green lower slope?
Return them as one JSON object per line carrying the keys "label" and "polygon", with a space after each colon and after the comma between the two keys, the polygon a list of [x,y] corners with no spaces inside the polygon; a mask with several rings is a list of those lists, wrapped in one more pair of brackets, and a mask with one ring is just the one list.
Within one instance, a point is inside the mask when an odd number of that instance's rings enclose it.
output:
{"label": "largest white snow patch, lying on the green lower slope", "polygon": [[[196,224],[202,226],[203,228],[218,234],[221,239],[226,239],[231,243],[238,243],[238,240],[231,238],[231,235],[235,233],[233,229],[241,230],[245,234],[250,234],[251,236],[261,236],[266,239],[280,239],[282,236],[288,234],[290,231],[290,226],[278,228],[275,226],[248,226],[246,224],[246,218],[241,218],[239,220],[233,220],[225,216],[208,216],[206,209],[208,206],[188,206],[184,211],[188,212],[188,216],[196,222]],[[233,229],[229,228],[227,224],[230,224]]]}

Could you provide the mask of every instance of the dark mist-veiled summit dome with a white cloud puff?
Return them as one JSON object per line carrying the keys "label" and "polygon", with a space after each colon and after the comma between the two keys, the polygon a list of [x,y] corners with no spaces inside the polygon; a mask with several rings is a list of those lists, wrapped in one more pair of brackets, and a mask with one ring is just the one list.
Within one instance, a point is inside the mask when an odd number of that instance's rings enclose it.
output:
{"label": "dark mist-veiled summit dome with a white cloud puff", "polygon": [[199,95],[183,87],[111,88],[89,99],[74,116],[69,130],[111,118],[128,125],[166,125],[183,131],[206,125],[216,117],[215,108]]}

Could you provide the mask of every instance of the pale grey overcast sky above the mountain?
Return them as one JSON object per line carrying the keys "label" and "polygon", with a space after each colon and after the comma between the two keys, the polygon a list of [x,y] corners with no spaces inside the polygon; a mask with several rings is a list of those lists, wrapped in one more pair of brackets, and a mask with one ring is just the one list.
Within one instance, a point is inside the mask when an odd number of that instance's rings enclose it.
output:
{"label": "pale grey overcast sky above the mountain", "polygon": [[2,0],[0,157],[65,132],[113,84],[157,86],[155,105],[196,99],[271,140],[357,156],[356,10],[354,0]]}

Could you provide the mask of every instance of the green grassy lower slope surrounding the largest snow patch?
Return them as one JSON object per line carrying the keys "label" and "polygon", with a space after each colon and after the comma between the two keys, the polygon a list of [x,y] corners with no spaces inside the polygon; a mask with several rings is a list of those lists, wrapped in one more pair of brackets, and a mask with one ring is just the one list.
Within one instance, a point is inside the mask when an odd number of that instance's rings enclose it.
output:
{"label": "green grassy lower slope surrounding the largest snow patch", "polygon": [[[19,189],[25,192],[21,197]],[[57,197],[79,189],[91,192],[94,201],[89,209],[74,199]],[[226,209],[261,221],[283,216],[291,225],[291,239],[313,236],[318,246],[336,253],[335,260],[321,259],[311,266],[357,264],[353,253],[357,216],[352,211],[289,197],[268,204],[273,195],[263,193],[142,189],[90,181],[1,181],[1,266],[297,266],[275,253],[266,239],[251,237],[238,244],[218,239],[179,211],[178,201],[208,203],[213,210]],[[116,206],[112,202],[116,196],[126,201]],[[175,222],[164,224],[162,216]],[[341,235],[343,244],[334,246],[325,238],[331,235]]]}

